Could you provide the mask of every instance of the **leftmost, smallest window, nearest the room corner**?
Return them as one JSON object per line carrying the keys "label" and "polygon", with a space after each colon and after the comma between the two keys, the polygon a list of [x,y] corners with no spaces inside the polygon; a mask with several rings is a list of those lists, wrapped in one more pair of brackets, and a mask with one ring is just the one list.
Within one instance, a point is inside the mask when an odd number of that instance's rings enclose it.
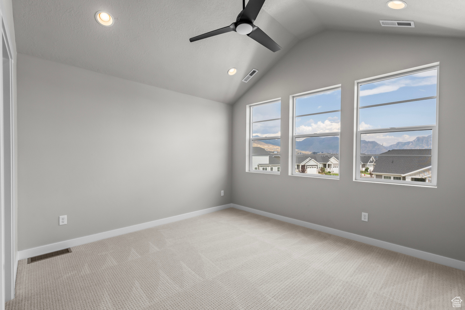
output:
{"label": "leftmost, smallest window, nearest the room corner", "polygon": [[[281,101],[250,105],[250,144],[248,171],[260,170],[258,165],[279,165],[281,153]],[[262,167],[260,172],[279,173],[278,169]]]}

